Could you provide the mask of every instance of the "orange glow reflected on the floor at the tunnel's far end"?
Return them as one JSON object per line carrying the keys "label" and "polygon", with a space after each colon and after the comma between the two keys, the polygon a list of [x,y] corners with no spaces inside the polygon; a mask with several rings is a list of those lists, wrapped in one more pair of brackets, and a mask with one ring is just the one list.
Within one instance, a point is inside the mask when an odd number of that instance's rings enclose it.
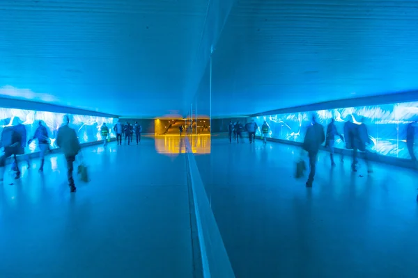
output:
{"label": "orange glow reflected on the floor at the tunnel's far end", "polygon": [[[155,149],[160,154],[185,154],[185,136],[163,135],[156,136]],[[210,154],[210,135],[187,136],[194,154]]]}

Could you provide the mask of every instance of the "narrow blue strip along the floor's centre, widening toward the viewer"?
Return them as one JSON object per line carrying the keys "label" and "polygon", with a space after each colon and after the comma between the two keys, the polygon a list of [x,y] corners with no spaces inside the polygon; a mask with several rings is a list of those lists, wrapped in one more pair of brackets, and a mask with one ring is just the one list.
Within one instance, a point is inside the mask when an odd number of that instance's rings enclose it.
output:
{"label": "narrow blue strip along the floor's centre, widening toward the viewer", "polygon": [[201,254],[202,272],[204,278],[235,277],[229,261],[222,236],[217,227],[215,215],[210,207],[208,195],[197,167],[192,147],[185,138],[187,171],[192,187],[194,213],[196,216],[197,234]]}

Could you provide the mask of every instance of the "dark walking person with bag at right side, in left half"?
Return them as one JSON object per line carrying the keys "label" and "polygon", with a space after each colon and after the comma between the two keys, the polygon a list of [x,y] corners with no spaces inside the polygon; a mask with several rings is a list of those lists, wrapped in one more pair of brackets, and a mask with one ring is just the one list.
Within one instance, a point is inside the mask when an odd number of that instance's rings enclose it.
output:
{"label": "dark walking person with bag at right side, in left half", "polygon": [[58,129],[56,145],[62,149],[65,156],[65,161],[67,161],[67,177],[68,186],[70,186],[70,192],[75,192],[77,188],[75,188],[72,172],[74,170],[75,156],[77,156],[81,147],[77,138],[77,133],[74,129],[68,126],[69,123],[70,119],[68,118],[68,115],[65,115],[63,119],[63,126]]}

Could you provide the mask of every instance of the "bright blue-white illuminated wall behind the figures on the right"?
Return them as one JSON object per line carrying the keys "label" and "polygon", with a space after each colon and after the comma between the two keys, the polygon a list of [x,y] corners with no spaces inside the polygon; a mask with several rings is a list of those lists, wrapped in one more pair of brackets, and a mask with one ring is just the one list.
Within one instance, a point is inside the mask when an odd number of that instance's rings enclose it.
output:
{"label": "bright blue-white illuminated wall behind the figures on the right", "polygon": [[[268,137],[303,142],[307,126],[311,124],[312,115],[316,115],[325,131],[327,124],[334,117],[336,129],[341,134],[343,134],[344,123],[349,119],[358,124],[359,119],[364,117],[364,124],[372,140],[373,151],[383,156],[410,158],[406,147],[406,127],[410,122],[418,120],[418,102],[268,115],[253,117],[253,119],[258,124],[258,135],[261,135],[261,125],[266,120],[270,126]],[[344,149],[345,143],[338,139],[335,146]]]}

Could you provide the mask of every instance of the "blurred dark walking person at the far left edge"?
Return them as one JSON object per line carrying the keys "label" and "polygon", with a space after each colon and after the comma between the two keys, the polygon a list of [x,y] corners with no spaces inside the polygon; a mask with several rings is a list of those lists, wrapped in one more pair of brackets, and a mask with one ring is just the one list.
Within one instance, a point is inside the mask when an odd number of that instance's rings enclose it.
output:
{"label": "blurred dark walking person at the far left edge", "polygon": [[[26,137],[26,130],[25,130]],[[13,156],[16,170],[15,179],[20,178],[20,170],[17,164],[16,154],[24,152],[22,149],[22,136],[15,130],[15,126],[6,126],[1,132],[0,148],[3,147],[3,154],[0,156],[0,181],[3,181],[4,167],[6,167],[6,160]]]}

